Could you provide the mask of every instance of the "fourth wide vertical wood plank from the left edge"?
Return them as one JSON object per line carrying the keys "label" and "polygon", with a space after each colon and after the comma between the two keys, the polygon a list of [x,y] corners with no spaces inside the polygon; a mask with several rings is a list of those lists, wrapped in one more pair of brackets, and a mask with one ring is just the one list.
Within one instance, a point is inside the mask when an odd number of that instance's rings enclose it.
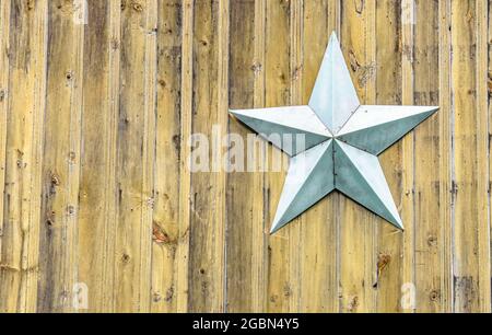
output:
{"label": "fourth wide vertical wood plank from the left edge", "polygon": [[145,312],[151,247],[157,2],[122,2],[116,310]]}

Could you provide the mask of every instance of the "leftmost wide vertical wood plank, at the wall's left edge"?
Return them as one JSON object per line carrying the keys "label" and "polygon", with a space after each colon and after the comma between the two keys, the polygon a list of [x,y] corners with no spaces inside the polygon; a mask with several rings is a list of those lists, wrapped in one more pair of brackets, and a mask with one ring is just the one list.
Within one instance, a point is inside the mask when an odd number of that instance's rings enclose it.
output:
{"label": "leftmost wide vertical wood plank, at the wall's left edge", "polygon": [[15,34],[9,36],[7,129],[10,131],[5,150],[0,311],[34,312],[38,282],[48,2],[15,4],[10,8],[10,31]]}

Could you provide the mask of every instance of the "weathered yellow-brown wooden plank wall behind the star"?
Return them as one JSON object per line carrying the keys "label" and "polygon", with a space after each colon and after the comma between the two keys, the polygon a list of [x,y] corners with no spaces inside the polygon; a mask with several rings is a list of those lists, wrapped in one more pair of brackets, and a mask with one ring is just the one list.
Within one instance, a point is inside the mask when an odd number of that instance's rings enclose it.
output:
{"label": "weathered yellow-brown wooden plank wall behind the star", "polygon": [[[491,311],[492,1],[86,4],[0,0],[0,312]],[[270,236],[284,174],[188,138],[305,104],[332,31],[364,103],[441,106],[382,157],[407,230],[336,194]]]}

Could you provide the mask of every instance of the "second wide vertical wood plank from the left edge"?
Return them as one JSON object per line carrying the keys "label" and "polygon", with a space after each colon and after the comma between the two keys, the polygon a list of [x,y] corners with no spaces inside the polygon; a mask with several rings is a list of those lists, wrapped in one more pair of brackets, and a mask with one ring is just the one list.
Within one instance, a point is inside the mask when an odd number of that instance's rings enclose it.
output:
{"label": "second wide vertical wood plank from the left edge", "polygon": [[74,3],[49,2],[47,101],[39,245],[39,312],[72,311],[77,280],[77,223],[84,25]]}

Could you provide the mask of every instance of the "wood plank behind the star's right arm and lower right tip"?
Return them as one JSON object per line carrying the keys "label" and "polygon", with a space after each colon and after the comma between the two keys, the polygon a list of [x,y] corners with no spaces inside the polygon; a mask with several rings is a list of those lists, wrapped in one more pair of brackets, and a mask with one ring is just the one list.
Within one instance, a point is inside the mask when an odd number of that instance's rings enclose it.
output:
{"label": "wood plank behind the star's right arm and lower right tip", "polygon": [[[376,3],[376,104],[401,105],[402,90],[402,58],[401,58],[401,5],[400,1],[384,0]],[[398,208],[405,207],[403,224],[412,220],[412,201],[408,201],[401,176],[413,174],[413,162],[403,160],[402,142],[395,143],[380,158],[386,181],[390,185],[391,195]],[[400,311],[400,297],[403,263],[402,239],[403,232],[388,224],[384,220],[374,222],[377,229],[377,268],[373,288],[377,290],[377,311]],[[411,224],[411,223],[410,223]]]}

